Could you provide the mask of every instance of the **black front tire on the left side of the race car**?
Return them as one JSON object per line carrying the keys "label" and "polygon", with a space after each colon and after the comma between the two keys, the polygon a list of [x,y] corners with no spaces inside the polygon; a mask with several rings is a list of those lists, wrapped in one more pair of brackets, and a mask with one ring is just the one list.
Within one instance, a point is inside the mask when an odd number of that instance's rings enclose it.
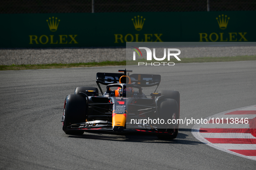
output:
{"label": "black front tire on the left side of the race car", "polygon": [[82,135],[84,131],[67,130],[66,128],[74,123],[86,122],[86,98],[82,95],[69,94],[65,103],[65,119],[63,130],[68,135]]}

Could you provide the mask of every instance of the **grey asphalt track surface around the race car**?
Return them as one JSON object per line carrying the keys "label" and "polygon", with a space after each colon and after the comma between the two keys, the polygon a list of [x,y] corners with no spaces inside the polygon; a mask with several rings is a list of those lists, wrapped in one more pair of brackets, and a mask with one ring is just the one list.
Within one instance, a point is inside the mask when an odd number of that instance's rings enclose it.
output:
{"label": "grey asphalt track surface around the race car", "polygon": [[[181,119],[256,103],[256,61],[162,68],[149,73],[161,74],[159,90],[180,92]],[[172,141],[154,135],[65,135],[60,122],[65,97],[78,86],[96,87],[96,72],[117,69],[123,67],[1,71],[0,169],[255,169],[256,161],[195,139],[194,124],[180,125]]]}

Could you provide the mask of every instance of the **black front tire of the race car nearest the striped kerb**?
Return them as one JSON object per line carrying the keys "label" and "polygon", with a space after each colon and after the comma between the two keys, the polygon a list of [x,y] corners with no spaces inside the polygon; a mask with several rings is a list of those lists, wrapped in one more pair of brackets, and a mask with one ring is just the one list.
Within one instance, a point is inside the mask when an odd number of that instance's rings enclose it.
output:
{"label": "black front tire of the race car nearest the striped kerb", "polygon": [[[158,113],[159,119],[164,119],[165,122],[168,119],[178,119],[178,103],[175,99],[164,98],[159,101],[158,105]],[[176,121],[175,121],[176,122]],[[175,139],[178,135],[178,124],[172,125],[172,127],[168,127],[167,129],[159,129],[162,132],[172,132],[172,134],[158,134],[158,139],[170,140]]]}

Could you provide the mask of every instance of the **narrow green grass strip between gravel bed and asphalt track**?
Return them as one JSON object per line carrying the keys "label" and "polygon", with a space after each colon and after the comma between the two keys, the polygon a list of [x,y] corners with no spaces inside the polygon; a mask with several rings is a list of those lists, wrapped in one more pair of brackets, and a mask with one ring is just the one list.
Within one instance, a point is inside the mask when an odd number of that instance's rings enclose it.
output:
{"label": "narrow green grass strip between gravel bed and asphalt track", "polygon": [[[181,58],[181,61],[172,59],[170,61],[155,61],[155,62],[174,62],[178,63],[206,63],[206,62],[227,62],[227,61],[248,61],[256,60],[256,56],[237,56],[237,57],[200,57],[200,58]],[[151,63],[154,61],[147,61],[140,59],[136,61],[104,61],[104,62],[93,62],[93,63],[70,63],[70,64],[35,64],[35,65],[0,65],[0,70],[22,70],[22,69],[59,69],[59,68],[75,68],[75,67],[96,67],[96,66],[125,66],[137,65],[138,62]]]}

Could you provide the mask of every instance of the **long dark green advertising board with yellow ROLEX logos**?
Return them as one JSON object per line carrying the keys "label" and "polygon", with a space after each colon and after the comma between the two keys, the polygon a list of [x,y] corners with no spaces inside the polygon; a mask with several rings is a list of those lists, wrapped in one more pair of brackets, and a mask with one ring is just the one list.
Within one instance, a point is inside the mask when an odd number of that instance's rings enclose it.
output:
{"label": "long dark green advertising board with yellow ROLEX logos", "polygon": [[256,11],[0,14],[0,47],[125,47],[126,42],[253,42]]}

